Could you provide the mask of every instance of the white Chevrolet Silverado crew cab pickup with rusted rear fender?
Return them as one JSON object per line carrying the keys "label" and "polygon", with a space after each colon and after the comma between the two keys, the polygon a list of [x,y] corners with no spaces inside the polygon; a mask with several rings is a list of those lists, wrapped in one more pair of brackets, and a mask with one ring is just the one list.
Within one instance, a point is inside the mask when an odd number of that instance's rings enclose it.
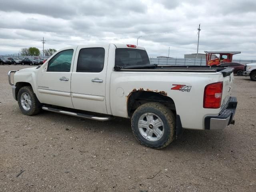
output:
{"label": "white Chevrolet Silverado crew cab pickup with rusted rear fender", "polygon": [[136,45],[64,48],[42,66],[8,76],[23,114],[43,109],[100,121],[131,118],[134,135],[151,148],[164,148],[183,128],[221,130],[234,123],[233,68],[157,66]]}

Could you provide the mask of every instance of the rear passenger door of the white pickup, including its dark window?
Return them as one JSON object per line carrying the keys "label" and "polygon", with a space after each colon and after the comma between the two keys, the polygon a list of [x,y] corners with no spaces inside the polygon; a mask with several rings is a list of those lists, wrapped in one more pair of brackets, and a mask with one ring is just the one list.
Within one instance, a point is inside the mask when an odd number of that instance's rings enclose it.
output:
{"label": "rear passenger door of the white pickup, including its dark window", "polygon": [[71,80],[74,108],[107,114],[106,70],[109,46],[78,46]]}

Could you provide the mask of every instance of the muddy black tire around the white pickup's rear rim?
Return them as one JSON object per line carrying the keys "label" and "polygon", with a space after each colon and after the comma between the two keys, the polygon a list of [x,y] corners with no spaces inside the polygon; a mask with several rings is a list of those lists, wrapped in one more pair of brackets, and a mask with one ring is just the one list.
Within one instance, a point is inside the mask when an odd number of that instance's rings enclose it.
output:
{"label": "muddy black tire around the white pickup's rear rim", "polygon": [[[160,118],[162,121],[162,130],[163,134],[162,137],[158,140],[152,141],[145,138],[145,136],[142,135],[140,130],[154,130],[156,129],[156,125],[150,127],[150,121],[148,128],[139,128],[138,122],[140,118],[144,116],[144,114],[153,114],[155,118]],[[155,120],[154,120],[155,121]],[[153,121],[153,122],[154,122]],[[175,132],[175,126],[176,126],[176,119],[174,114],[170,109],[168,109],[163,104],[157,103],[157,102],[150,102],[143,104],[139,106],[134,114],[132,115],[132,132],[136,136],[136,138],[140,141],[140,143],[146,147],[154,148],[154,149],[161,149],[166,146],[168,146],[175,138],[174,132]],[[161,128],[161,127],[159,127]],[[146,132],[145,132],[146,133]],[[156,135],[155,135],[156,136]],[[157,137],[157,136],[156,136]],[[154,138],[154,134],[152,134],[151,138]]]}

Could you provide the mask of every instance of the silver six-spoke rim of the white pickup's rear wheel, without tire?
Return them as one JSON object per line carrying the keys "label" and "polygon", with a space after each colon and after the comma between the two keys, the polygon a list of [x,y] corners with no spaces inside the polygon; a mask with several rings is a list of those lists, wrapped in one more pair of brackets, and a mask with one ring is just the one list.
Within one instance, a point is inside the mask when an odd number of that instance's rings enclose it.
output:
{"label": "silver six-spoke rim of the white pickup's rear wheel, without tire", "polygon": [[149,141],[157,141],[164,135],[164,123],[154,113],[144,113],[138,121],[140,134]]}

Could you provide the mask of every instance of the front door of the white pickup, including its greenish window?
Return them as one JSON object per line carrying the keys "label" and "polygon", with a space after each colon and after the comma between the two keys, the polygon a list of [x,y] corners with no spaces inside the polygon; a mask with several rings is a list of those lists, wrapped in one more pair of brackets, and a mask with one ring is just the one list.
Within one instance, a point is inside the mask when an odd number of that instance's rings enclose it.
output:
{"label": "front door of the white pickup, including its greenish window", "polygon": [[70,92],[74,49],[62,50],[38,72],[37,88],[40,102],[73,108]]}

